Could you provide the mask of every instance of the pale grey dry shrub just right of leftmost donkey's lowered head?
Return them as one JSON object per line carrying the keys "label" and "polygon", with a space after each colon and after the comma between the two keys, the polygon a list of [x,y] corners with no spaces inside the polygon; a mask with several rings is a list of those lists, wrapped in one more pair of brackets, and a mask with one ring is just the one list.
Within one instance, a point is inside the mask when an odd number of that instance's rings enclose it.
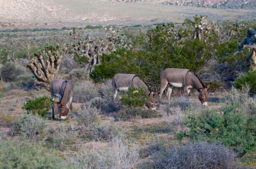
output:
{"label": "pale grey dry shrub just right of leftmost donkey's lowered head", "polygon": [[99,120],[98,115],[100,111],[96,107],[83,105],[81,111],[75,114],[75,119],[78,124],[84,128],[89,128]]}

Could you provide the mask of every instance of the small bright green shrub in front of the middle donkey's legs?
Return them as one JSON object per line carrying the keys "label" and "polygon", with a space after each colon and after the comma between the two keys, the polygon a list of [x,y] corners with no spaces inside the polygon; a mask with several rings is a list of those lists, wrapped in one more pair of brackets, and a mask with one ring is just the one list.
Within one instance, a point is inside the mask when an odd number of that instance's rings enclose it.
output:
{"label": "small bright green shrub in front of the middle donkey's legs", "polygon": [[146,103],[145,94],[145,88],[139,88],[137,90],[135,87],[131,87],[129,88],[129,91],[127,91],[127,95],[124,94],[122,96],[121,101],[123,101],[129,107],[142,107],[144,106],[144,103]]}

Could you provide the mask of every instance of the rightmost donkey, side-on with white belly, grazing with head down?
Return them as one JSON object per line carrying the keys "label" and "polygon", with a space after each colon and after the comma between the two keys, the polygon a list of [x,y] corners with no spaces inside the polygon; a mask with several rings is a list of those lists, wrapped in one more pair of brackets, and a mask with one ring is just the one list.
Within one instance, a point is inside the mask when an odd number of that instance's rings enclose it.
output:
{"label": "rightmost donkey, side-on with white belly, grazing with head down", "polygon": [[162,72],[160,78],[161,90],[159,94],[159,103],[160,98],[162,97],[162,93],[165,91],[165,88],[169,83],[170,86],[168,85],[168,90],[166,94],[168,98],[168,103],[170,103],[172,87],[183,87],[186,96],[190,96],[191,88],[194,87],[199,92],[198,98],[201,101],[202,105],[204,107],[207,107],[207,89],[210,87],[210,84],[204,87],[204,84],[190,70],[181,68],[167,68]]}

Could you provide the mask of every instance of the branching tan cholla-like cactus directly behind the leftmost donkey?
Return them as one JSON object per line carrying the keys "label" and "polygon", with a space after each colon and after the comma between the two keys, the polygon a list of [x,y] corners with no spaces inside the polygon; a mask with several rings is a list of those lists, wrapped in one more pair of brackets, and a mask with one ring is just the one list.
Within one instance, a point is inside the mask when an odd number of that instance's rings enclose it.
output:
{"label": "branching tan cholla-like cactus directly behind the leftmost donkey", "polygon": [[63,58],[59,46],[48,45],[43,52],[33,53],[27,68],[34,74],[34,81],[50,90],[50,85],[57,78],[60,61]]}

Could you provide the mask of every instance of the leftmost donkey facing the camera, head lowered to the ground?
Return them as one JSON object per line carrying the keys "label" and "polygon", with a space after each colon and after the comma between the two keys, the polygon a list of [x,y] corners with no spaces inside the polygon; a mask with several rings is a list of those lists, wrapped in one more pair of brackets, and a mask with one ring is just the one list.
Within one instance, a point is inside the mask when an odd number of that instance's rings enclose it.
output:
{"label": "leftmost donkey facing the camera, head lowered to the ground", "polygon": [[73,88],[70,81],[66,79],[55,79],[51,83],[51,96],[54,104],[52,104],[52,119],[54,117],[54,105],[57,104],[60,118],[65,120],[68,111],[72,111]]}

